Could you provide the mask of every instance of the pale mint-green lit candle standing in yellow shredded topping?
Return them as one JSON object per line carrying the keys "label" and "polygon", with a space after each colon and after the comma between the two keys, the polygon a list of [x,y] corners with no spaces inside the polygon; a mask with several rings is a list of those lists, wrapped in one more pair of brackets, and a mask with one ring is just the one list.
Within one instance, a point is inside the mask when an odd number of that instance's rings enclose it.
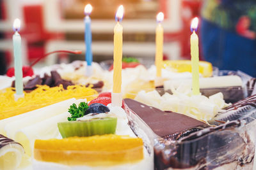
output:
{"label": "pale mint-green lit candle standing in yellow shredded topping", "polygon": [[17,18],[13,22],[13,55],[15,69],[15,100],[23,97],[23,81],[22,81],[22,60],[21,60],[21,37],[19,34],[20,20]]}

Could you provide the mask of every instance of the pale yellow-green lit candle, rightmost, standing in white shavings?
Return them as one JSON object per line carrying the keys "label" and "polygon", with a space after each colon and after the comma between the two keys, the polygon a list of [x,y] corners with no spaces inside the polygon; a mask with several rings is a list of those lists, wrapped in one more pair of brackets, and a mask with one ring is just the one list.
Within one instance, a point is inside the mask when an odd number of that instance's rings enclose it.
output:
{"label": "pale yellow-green lit candle, rightmost, standing in white shavings", "polygon": [[190,49],[191,49],[191,67],[192,67],[192,91],[193,95],[200,94],[199,91],[199,50],[198,36],[196,29],[198,27],[198,18],[194,18],[191,22]]}

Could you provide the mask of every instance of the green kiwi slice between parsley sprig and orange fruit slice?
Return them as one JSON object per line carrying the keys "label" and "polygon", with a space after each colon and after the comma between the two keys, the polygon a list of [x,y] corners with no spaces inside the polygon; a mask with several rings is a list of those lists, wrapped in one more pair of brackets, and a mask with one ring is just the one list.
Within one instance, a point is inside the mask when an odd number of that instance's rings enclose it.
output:
{"label": "green kiwi slice between parsley sprig and orange fruit slice", "polygon": [[115,134],[117,118],[92,118],[90,120],[78,120],[60,122],[58,128],[62,138],[72,136],[93,136],[102,134]]}

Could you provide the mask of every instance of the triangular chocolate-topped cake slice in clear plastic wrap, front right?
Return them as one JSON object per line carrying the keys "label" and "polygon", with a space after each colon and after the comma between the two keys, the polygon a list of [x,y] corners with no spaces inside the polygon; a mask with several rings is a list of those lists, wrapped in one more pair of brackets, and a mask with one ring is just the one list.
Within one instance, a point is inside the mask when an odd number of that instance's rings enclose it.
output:
{"label": "triangular chocolate-topped cake slice in clear plastic wrap, front right", "polygon": [[255,96],[244,99],[215,119],[227,123],[218,121],[222,124],[210,126],[125,99],[127,113],[139,117],[140,124],[144,122],[156,134],[147,131],[154,138],[156,169],[252,169],[255,106]]}

